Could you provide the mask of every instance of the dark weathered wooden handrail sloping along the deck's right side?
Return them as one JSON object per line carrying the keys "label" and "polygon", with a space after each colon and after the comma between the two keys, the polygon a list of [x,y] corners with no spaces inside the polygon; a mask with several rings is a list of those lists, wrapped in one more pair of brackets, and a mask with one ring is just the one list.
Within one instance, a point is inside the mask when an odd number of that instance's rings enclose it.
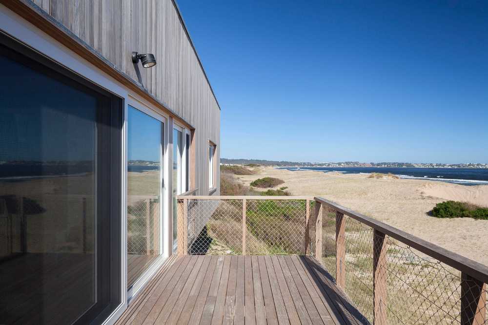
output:
{"label": "dark weathered wooden handrail sloping along the deck's right side", "polygon": [[373,218],[367,217],[364,214],[355,212],[353,210],[347,209],[335,202],[329,201],[322,197],[315,197],[315,201],[325,204],[340,213],[346,214],[347,216],[364,223],[365,225],[378,230],[396,240],[417,249],[430,257],[439,260],[453,268],[460,270],[461,272],[467,273],[468,275],[476,278],[484,283],[488,283],[488,267],[468,259],[467,257],[461,256],[450,250],[444,249],[440,246],[427,242],[419,237],[409,234],[405,231],[391,227],[381,221],[375,220]]}

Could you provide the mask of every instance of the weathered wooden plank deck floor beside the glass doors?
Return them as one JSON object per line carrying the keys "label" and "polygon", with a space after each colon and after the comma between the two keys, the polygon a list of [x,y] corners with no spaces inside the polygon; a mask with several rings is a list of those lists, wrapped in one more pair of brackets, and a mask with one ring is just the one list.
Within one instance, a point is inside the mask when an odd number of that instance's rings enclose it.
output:
{"label": "weathered wooden plank deck floor beside the glass doors", "polygon": [[364,324],[309,256],[173,256],[117,324]]}

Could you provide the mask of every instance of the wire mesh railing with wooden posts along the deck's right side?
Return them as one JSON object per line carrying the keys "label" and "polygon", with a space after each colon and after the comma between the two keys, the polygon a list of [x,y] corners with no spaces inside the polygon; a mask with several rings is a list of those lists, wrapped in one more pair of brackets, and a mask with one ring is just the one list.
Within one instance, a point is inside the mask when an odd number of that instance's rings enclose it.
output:
{"label": "wire mesh railing with wooden posts along the deck's right side", "polygon": [[[487,268],[316,198],[315,254],[365,321],[487,324]],[[316,201],[317,203],[317,201]],[[319,214],[320,210],[320,214]],[[347,214],[349,216],[347,216]]]}

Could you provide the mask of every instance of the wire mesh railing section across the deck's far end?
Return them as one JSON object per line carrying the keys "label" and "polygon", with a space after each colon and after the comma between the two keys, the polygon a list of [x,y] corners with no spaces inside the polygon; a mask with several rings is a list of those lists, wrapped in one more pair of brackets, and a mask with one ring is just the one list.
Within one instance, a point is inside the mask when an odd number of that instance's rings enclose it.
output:
{"label": "wire mesh railing section across the deck's far end", "polygon": [[179,198],[180,252],[311,254],[307,227],[311,202],[307,198]]}

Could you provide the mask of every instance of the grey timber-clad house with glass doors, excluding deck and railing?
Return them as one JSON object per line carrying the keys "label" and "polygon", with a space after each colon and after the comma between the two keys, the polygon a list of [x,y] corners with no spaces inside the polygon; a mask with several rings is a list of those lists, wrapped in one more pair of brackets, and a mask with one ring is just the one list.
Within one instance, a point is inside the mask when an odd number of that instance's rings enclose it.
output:
{"label": "grey timber-clad house with glass doors, excluding deck and railing", "polygon": [[0,4],[0,324],[114,322],[219,194],[219,103],[174,1]]}

